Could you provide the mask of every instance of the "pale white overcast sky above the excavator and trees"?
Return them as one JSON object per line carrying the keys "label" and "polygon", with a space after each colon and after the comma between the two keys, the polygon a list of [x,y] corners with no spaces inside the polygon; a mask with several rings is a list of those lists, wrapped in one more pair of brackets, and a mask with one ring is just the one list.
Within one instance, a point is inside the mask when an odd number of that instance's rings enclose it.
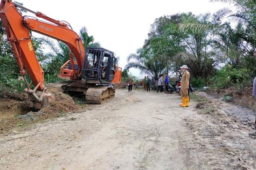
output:
{"label": "pale white overcast sky above the excavator and trees", "polygon": [[[201,14],[228,7],[209,0],[16,0],[32,11],[68,21],[79,33],[85,26],[89,35],[103,48],[120,57],[125,67],[126,57],[143,46],[150,25],[163,15],[182,12]],[[31,14],[31,16],[33,16]],[[134,75],[139,71],[131,69]]]}

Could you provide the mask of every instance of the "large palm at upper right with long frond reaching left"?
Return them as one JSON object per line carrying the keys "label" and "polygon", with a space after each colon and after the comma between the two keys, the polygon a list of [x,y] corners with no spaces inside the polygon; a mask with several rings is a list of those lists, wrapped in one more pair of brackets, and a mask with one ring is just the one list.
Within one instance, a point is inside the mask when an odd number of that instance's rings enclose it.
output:
{"label": "large palm at upper right with long frond reaching left", "polygon": [[[242,20],[245,21],[245,19],[239,18],[241,22],[237,23],[236,29],[231,29],[230,23],[222,23],[221,20],[231,12],[228,8],[223,8],[213,14],[211,20],[207,22],[182,23],[180,29],[200,34],[210,33],[213,39],[209,43],[211,43],[211,48],[214,51],[220,52],[219,54],[222,57],[219,60],[237,67],[240,66],[239,64],[244,64],[241,63],[244,58],[252,62],[252,58],[249,56],[252,55],[251,45],[254,43],[254,38],[248,35],[248,28],[244,27],[245,23]],[[232,14],[228,17],[233,17],[234,19],[234,17],[238,18],[239,16],[242,15]]]}

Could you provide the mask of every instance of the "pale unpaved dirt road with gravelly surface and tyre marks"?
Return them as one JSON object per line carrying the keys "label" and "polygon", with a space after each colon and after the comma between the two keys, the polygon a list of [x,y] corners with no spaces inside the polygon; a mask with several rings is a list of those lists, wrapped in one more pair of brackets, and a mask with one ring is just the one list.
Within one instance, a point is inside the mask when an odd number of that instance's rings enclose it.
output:
{"label": "pale unpaved dirt road with gravelly surface and tyre marks", "polygon": [[218,111],[202,114],[176,94],[117,90],[83,113],[0,136],[0,169],[256,168],[250,126],[210,102]]}

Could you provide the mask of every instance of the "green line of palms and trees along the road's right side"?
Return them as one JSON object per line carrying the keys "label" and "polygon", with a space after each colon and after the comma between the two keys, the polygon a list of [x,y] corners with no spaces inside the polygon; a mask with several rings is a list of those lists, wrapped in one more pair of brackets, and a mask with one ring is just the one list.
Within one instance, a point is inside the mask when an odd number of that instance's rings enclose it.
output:
{"label": "green line of palms and trees along the road's right side", "polygon": [[218,88],[252,85],[256,62],[256,5],[251,0],[212,0],[233,3],[214,14],[180,13],[157,18],[143,47],[127,57],[126,69],[137,68],[157,79],[187,65],[193,86]]}

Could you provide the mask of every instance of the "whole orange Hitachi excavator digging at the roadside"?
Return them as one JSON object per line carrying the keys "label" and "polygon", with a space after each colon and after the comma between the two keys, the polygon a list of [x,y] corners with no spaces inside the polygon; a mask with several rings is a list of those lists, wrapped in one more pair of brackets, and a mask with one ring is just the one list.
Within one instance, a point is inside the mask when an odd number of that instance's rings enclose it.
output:
{"label": "whole orange Hitachi excavator digging at the roadside", "polygon": [[[34,14],[37,18],[22,16],[16,7]],[[113,52],[95,47],[88,47],[85,51],[81,38],[72,30],[69,23],[49,18],[41,12],[31,11],[12,0],[1,0],[0,18],[20,74],[27,85],[25,92],[29,94],[29,107],[40,109],[55,100],[55,96],[47,92],[44,85],[44,71],[35,55],[31,31],[62,41],[70,49],[70,60],[63,64],[58,75],[66,81],[49,84],[49,87],[54,86],[65,93],[82,93],[85,95],[86,103],[101,104],[115,96],[115,89],[107,84],[120,83],[122,68],[116,65]],[[32,80],[30,84],[26,80],[26,74]],[[34,89],[31,89],[32,84]]]}

